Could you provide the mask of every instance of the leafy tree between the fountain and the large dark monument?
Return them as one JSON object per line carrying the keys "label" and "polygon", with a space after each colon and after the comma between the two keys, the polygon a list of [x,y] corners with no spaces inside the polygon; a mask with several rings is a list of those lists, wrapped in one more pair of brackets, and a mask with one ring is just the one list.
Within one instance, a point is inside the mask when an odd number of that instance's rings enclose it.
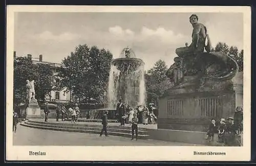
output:
{"label": "leafy tree between the fountain and the large dark monument", "polygon": [[172,86],[167,76],[167,65],[163,60],[158,60],[154,67],[145,73],[147,103],[158,104],[159,97]]}

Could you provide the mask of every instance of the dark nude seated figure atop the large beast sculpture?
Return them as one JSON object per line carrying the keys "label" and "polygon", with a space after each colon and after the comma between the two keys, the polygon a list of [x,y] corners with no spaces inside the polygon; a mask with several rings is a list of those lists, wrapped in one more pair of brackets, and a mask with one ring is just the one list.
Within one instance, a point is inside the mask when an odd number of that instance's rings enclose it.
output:
{"label": "dark nude seated figure atop the large beast sculpture", "polygon": [[[206,27],[198,22],[198,16],[196,14],[192,14],[189,17],[189,22],[193,26],[192,43],[189,46],[186,43],[185,47],[176,49],[176,54],[182,58],[194,53],[203,53],[204,48],[207,52],[210,52],[210,40]],[[206,38],[207,45],[205,45]]]}

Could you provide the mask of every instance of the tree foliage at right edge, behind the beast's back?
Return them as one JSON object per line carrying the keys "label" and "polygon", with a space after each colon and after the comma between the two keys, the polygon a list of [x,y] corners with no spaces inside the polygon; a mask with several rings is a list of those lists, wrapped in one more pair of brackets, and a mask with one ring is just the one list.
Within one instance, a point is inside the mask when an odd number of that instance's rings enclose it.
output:
{"label": "tree foliage at right edge, behind the beast's back", "polygon": [[219,42],[216,47],[211,50],[212,52],[223,52],[234,59],[239,66],[239,72],[243,72],[244,50],[238,51],[236,46],[229,46],[226,43]]}

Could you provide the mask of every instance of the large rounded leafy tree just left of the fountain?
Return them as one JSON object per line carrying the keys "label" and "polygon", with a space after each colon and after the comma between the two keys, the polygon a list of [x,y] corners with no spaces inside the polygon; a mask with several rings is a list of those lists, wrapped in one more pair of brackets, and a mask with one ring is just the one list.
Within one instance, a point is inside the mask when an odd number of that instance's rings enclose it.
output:
{"label": "large rounded leafy tree just left of the fountain", "polygon": [[99,99],[108,84],[112,58],[112,53],[105,49],[78,45],[62,61],[65,67],[58,75],[61,78],[59,88],[67,87],[67,91],[72,90],[72,95],[79,99]]}

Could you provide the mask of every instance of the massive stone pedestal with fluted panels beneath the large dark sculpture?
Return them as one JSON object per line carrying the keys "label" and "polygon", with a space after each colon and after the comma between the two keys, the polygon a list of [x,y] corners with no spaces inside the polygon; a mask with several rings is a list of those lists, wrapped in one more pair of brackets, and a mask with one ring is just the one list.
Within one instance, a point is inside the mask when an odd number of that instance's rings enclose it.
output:
{"label": "massive stone pedestal with fluted panels beneath the large dark sculpture", "polygon": [[158,129],[205,132],[211,118],[219,121],[232,116],[235,108],[236,93],[230,80],[205,79],[203,86],[180,84],[159,99]]}

